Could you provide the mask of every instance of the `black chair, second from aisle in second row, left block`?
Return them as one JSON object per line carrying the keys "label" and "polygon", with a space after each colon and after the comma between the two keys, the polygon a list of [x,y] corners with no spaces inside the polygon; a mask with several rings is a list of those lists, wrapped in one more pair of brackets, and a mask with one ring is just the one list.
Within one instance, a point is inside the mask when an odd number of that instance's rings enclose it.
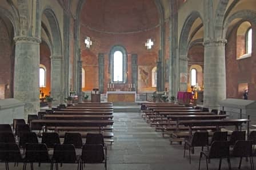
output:
{"label": "black chair, second from aisle in second row, left block", "polygon": [[75,148],[82,148],[83,140],[81,133],[66,132],[63,144],[73,144]]}

